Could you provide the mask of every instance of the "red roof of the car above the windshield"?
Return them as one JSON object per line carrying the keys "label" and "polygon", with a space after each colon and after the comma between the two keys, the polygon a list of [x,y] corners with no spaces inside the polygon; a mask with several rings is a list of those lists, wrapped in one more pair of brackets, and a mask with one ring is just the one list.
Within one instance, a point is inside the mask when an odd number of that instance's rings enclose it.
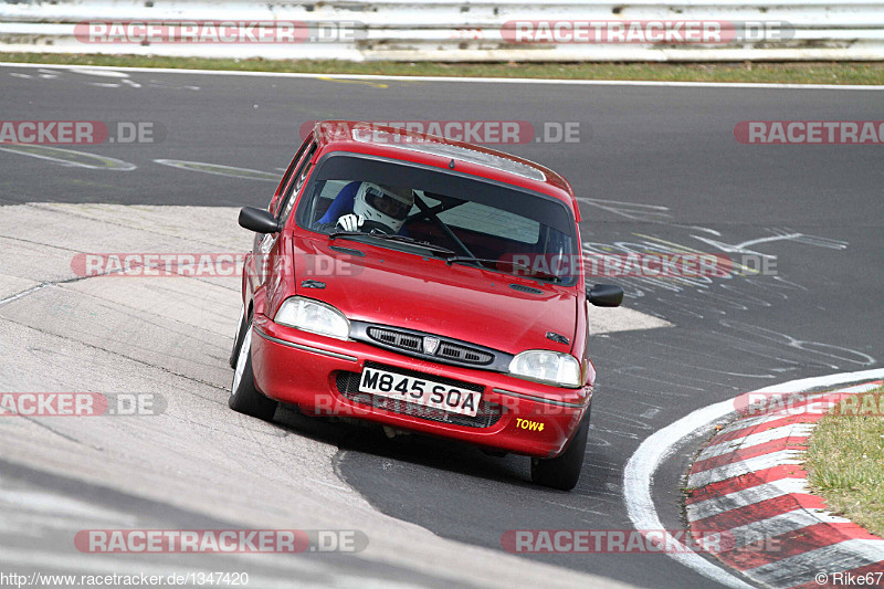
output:
{"label": "red roof of the car above the windshield", "polygon": [[323,150],[371,154],[454,169],[541,192],[566,202],[580,219],[573,190],[565,178],[545,166],[503,151],[359,120],[322,120],[316,123],[313,136]]}

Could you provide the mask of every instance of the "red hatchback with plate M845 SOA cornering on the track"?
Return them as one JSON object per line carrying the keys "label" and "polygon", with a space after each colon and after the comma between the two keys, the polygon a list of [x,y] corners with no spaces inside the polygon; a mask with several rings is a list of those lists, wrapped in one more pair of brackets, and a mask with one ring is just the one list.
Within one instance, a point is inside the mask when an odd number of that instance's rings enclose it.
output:
{"label": "red hatchback with plate M845 SOA cornering on the track", "polygon": [[324,122],[297,150],[243,267],[230,407],[377,422],[532,457],[579,478],[596,369],[580,211],[556,172],[484,147]]}

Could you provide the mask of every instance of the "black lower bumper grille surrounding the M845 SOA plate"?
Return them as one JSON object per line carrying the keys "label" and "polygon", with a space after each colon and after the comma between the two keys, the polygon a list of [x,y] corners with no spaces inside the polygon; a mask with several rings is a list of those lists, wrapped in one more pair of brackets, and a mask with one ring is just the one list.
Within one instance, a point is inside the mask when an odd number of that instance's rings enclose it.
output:
{"label": "black lower bumper grille surrounding the M845 SOA plate", "polygon": [[[407,370],[403,368],[396,368],[392,366],[385,366],[375,362],[366,362],[366,366],[369,368],[379,368],[381,370],[388,370],[390,372],[397,372],[400,375],[408,375],[417,378],[431,379],[434,382],[441,382],[452,387],[459,387],[465,390],[474,390],[474,391],[484,390],[484,387],[482,387],[481,385],[473,385],[471,382],[463,382],[461,380],[454,380],[450,378],[429,376],[424,375],[423,372],[418,372],[414,370]],[[480,401],[478,411],[476,412],[475,417],[470,417],[470,416],[462,416],[460,413],[451,413],[449,411],[443,411],[442,409],[435,409],[433,407],[410,403],[408,401],[402,401],[399,399],[390,399],[389,397],[383,397],[382,395],[360,392],[359,391],[360,379],[361,375],[359,372],[349,372],[344,370],[339,371],[336,377],[338,392],[340,392],[347,399],[359,404],[385,409],[387,411],[392,411],[393,413],[402,413],[406,416],[425,419],[429,421],[451,423],[452,425],[461,425],[464,428],[491,428],[492,425],[497,423],[497,421],[499,421],[501,416],[503,414],[502,406],[497,403],[490,403],[484,399]]]}

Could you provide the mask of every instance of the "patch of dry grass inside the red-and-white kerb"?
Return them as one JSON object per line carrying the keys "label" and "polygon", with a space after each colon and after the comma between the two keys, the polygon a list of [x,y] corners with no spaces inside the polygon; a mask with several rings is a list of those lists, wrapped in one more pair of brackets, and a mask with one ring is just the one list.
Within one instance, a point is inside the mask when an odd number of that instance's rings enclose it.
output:
{"label": "patch of dry grass inside the red-and-white kerb", "polygon": [[884,536],[884,387],[820,420],[806,457],[810,486],[830,509]]}

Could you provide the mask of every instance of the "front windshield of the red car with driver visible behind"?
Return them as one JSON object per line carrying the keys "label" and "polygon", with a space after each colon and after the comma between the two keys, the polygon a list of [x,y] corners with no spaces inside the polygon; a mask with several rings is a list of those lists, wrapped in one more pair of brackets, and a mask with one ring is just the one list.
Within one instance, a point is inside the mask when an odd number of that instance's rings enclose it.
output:
{"label": "front windshield of the red car with driver visible behind", "polygon": [[[371,204],[377,209],[366,209]],[[341,220],[366,210],[359,225]],[[438,168],[333,152],[317,166],[295,220],[333,239],[411,245],[452,264],[562,284],[579,274],[565,203]]]}

